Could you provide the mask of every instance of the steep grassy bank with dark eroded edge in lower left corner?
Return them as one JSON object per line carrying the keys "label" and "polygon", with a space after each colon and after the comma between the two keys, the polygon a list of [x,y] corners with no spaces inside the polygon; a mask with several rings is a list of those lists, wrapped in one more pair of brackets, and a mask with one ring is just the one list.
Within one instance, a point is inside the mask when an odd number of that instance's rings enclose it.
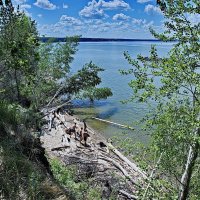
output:
{"label": "steep grassy bank with dark eroded edge in lower left corner", "polygon": [[[40,150],[26,118],[14,105],[0,102],[0,199],[52,199],[63,194],[39,160]],[[65,198],[66,199],[66,198]]]}

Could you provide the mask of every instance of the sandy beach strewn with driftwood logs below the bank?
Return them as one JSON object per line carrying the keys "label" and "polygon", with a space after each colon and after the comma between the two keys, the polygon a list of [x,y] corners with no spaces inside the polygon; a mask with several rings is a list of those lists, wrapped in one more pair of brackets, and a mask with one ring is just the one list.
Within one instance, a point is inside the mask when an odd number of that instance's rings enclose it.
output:
{"label": "sandy beach strewn with driftwood logs below the bank", "polygon": [[[48,116],[46,120],[49,120]],[[77,123],[77,132],[84,126],[77,116],[58,114],[51,123],[52,128],[47,124],[43,127],[44,134],[40,138],[47,157],[57,158],[66,166],[75,164],[80,177],[87,176],[101,185],[105,198],[114,189],[117,190],[119,199],[126,199],[127,194],[137,193],[146,174],[102,135],[87,127],[90,137],[85,146],[83,142],[80,143],[79,137],[75,138],[74,134],[70,136],[65,132],[74,123]]]}

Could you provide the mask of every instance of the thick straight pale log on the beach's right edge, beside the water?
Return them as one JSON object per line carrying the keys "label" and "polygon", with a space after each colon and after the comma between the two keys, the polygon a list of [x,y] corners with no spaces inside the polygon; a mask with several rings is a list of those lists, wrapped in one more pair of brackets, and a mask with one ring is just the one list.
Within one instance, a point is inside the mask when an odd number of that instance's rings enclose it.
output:
{"label": "thick straight pale log on the beach's right edge, beside the water", "polygon": [[140,173],[144,179],[148,179],[145,172],[143,172],[139,167],[137,167],[136,164],[132,163],[128,158],[126,158],[122,153],[120,153],[112,144],[107,144],[108,148],[115,153],[121,160],[123,160],[125,163],[127,163],[134,171]]}

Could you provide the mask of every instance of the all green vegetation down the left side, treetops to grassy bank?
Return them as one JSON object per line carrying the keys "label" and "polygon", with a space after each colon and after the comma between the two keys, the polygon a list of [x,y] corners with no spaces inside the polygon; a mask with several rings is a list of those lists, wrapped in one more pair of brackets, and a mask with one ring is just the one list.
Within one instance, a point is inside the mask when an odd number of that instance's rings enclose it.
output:
{"label": "all green vegetation down the left side, treetops to grassy bank", "polygon": [[38,140],[43,108],[112,95],[109,88],[98,87],[103,69],[94,63],[71,72],[78,40],[41,43],[35,21],[15,10],[10,0],[0,1],[1,199],[52,199],[62,193],[48,175],[52,173]]}

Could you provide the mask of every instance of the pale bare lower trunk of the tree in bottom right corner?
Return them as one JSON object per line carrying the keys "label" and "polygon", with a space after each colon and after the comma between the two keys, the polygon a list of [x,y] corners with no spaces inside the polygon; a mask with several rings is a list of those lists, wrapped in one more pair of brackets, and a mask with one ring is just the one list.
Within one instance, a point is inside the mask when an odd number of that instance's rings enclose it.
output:
{"label": "pale bare lower trunk of the tree in bottom right corner", "polygon": [[[199,135],[200,128],[198,128],[195,135]],[[179,188],[179,200],[186,200],[189,194],[189,184],[193,172],[193,167],[195,165],[195,161],[198,156],[199,151],[199,143],[195,142],[193,145],[190,146],[188,156],[187,156],[187,163],[185,165],[185,171],[181,178],[181,185]]]}

